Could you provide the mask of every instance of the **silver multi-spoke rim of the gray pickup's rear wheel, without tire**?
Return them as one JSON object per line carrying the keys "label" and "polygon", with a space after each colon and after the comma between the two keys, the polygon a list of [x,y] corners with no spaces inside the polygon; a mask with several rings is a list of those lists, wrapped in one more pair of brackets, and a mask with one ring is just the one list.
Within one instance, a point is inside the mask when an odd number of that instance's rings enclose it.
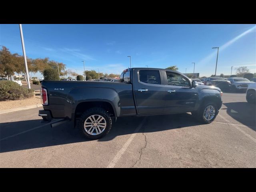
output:
{"label": "silver multi-spoke rim of the gray pickup's rear wheel, without tire", "polygon": [[84,130],[90,135],[101,134],[106,128],[106,120],[100,115],[91,115],[84,121]]}

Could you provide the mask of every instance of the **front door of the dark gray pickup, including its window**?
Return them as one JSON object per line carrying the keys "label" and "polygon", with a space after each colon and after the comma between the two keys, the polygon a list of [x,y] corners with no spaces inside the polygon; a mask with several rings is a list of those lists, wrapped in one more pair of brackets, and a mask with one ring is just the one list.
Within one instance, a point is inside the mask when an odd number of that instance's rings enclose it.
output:
{"label": "front door of the dark gray pickup, including its window", "polygon": [[191,82],[180,73],[166,70],[163,74],[166,84],[166,113],[191,112],[198,102],[198,92]]}

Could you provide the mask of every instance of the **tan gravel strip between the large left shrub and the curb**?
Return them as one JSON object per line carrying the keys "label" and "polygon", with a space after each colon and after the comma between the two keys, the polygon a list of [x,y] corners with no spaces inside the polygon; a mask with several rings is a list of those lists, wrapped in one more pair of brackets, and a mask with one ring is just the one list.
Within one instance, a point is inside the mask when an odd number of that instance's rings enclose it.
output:
{"label": "tan gravel strip between the large left shrub and the curb", "polygon": [[40,96],[34,96],[24,100],[0,101],[0,110],[14,109],[18,107],[41,104]]}

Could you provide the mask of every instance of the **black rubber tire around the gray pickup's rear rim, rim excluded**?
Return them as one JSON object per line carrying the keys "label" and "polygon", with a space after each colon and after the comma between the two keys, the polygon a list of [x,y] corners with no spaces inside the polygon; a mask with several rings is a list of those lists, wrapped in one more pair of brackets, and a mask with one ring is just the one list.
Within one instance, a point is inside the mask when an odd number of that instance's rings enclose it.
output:
{"label": "black rubber tire around the gray pickup's rear rim, rim excluded", "polygon": [[[85,131],[85,129],[84,129],[84,122],[85,122],[85,120],[88,117],[92,116],[92,115],[100,115],[100,116],[104,117],[104,119],[106,121],[106,128],[105,128],[105,130],[102,133],[98,134],[98,135],[88,134]],[[105,109],[99,108],[99,107],[90,108],[90,109],[86,110],[81,115],[81,119],[78,122],[78,128],[80,129],[82,134],[84,136],[86,136],[86,138],[89,138],[91,140],[96,140],[96,139],[99,139],[99,138],[102,138],[102,137],[106,136],[106,134],[108,134],[110,132],[111,127],[112,127],[112,120],[110,118],[110,115],[108,114],[108,112]]]}

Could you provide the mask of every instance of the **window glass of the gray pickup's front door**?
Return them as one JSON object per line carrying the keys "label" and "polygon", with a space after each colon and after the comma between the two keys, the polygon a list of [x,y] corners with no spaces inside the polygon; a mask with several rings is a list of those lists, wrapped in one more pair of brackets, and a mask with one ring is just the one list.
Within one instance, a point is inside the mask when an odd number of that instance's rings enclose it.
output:
{"label": "window glass of the gray pickup's front door", "polygon": [[184,76],[180,74],[166,71],[166,76],[167,76],[168,85],[188,86],[188,87],[190,86],[188,79],[186,79]]}

